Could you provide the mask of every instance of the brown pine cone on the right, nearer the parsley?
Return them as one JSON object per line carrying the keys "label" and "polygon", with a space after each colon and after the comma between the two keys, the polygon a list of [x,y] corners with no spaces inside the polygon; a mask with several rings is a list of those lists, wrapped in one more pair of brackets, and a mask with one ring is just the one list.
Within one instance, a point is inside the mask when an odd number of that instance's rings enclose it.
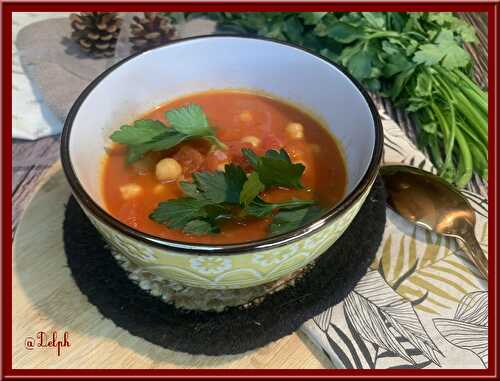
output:
{"label": "brown pine cone on the right, nearer the parsley", "polygon": [[144,18],[133,17],[130,24],[133,52],[142,52],[163,45],[175,36],[175,28],[167,16],[157,12],[144,12]]}

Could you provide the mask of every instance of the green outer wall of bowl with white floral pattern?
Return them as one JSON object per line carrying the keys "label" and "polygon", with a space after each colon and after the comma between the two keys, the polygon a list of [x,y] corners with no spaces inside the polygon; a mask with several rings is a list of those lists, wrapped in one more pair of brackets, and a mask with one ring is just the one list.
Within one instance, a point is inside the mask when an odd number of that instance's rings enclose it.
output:
{"label": "green outer wall of bowl with white floral pattern", "polygon": [[193,287],[244,288],[279,279],[325,252],[347,229],[370,188],[343,214],[312,234],[276,248],[229,255],[194,255],[154,248],[105,225],[82,208],[113,248],[147,271]]}

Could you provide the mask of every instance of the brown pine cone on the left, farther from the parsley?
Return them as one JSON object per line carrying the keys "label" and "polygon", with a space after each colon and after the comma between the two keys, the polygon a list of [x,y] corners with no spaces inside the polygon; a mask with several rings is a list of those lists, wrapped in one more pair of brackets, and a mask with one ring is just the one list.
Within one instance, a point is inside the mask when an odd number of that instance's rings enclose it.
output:
{"label": "brown pine cone on the left, farther from the parsley", "polygon": [[90,56],[112,57],[123,20],[117,13],[84,12],[69,16],[75,40],[82,51]]}

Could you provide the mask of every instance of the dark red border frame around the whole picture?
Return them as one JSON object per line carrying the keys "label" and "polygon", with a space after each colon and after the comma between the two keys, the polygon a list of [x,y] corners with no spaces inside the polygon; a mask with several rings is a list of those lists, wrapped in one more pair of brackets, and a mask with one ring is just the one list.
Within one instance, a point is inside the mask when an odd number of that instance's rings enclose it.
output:
{"label": "dark red border frame around the whole picture", "polygon": [[[497,38],[500,35],[499,17],[500,4],[494,1],[357,1],[357,2],[172,2],[172,3],[56,3],[56,2],[3,2],[2,10],[2,377],[5,378],[34,378],[34,377],[161,377],[173,376],[176,378],[192,377],[244,377],[254,378],[271,376],[276,378],[319,378],[319,377],[347,377],[355,378],[417,378],[437,376],[440,378],[497,378],[497,343],[498,329],[496,313],[498,303],[497,294],[497,171],[498,156],[498,48]],[[161,370],[161,369],[131,369],[131,370],[91,370],[91,369],[12,369],[12,12],[29,11],[454,11],[454,12],[487,12],[488,13],[488,84],[489,84],[489,368],[488,369],[421,369],[421,370],[344,370],[344,369],[315,369],[315,370],[221,370],[221,369],[194,369],[194,370]],[[492,255],[493,254],[493,255]]]}

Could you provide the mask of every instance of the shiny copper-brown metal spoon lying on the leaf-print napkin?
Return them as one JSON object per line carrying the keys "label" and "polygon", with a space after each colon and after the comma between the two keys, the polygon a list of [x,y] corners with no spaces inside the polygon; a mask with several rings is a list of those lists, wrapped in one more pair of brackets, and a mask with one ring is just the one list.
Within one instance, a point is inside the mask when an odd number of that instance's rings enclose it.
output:
{"label": "shiny copper-brown metal spoon lying on the leaf-print napkin", "polygon": [[485,279],[488,259],[474,235],[476,215],[465,197],[445,180],[407,165],[386,165],[380,173],[389,206],[428,230],[458,238]]}

